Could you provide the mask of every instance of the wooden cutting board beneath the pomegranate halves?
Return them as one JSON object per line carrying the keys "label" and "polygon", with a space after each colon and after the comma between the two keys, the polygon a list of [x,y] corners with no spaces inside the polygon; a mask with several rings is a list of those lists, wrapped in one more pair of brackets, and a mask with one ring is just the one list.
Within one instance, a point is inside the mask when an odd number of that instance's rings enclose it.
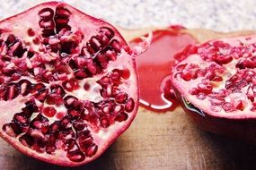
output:
{"label": "wooden cutting board beneath the pomegranate halves", "polygon": [[[130,40],[155,28],[123,30]],[[212,30],[189,31],[199,42],[252,34],[252,31],[219,33]],[[60,167],[26,157],[0,140],[1,170],[229,170],[256,169],[256,147],[201,131],[181,107],[173,112],[155,114],[139,107],[137,117],[128,129],[102,157],[85,166]]]}

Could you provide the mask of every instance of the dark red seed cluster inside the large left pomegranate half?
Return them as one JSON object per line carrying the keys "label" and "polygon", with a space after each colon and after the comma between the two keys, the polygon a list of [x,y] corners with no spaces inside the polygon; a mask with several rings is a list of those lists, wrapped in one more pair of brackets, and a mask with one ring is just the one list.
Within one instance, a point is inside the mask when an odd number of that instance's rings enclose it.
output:
{"label": "dark red seed cluster inside the large left pomegranate half", "polygon": [[[66,7],[38,15],[41,34],[27,30],[32,44],[0,31],[0,100],[27,100],[3,130],[37,152],[61,150],[71,161],[84,161],[98,150],[92,131],[126,121],[135,108],[120,88],[130,72],[106,71],[122,44],[108,27],[84,43],[83,32],[68,24],[72,13]],[[94,84],[88,81],[93,76]],[[98,101],[83,98],[89,91],[99,92]]]}

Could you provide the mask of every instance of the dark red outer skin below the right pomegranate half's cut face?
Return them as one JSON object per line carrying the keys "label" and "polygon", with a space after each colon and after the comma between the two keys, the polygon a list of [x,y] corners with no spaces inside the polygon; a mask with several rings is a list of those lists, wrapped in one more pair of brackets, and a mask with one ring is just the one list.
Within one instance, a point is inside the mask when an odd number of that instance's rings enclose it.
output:
{"label": "dark red outer skin below the right pomegranate half's cut face", "polygon": [[193,122],[202,130],[220,134],[235,140],[243,140],[252,144],[256,143],[255,118],[231,119],[208,115],[207,112],[204,112],[204,115],[200,115],[198,112],[191,111],[185,106],[181,98],[181,93],[177,89],[175,89],[175,94],[185,113],[189,115]]}

